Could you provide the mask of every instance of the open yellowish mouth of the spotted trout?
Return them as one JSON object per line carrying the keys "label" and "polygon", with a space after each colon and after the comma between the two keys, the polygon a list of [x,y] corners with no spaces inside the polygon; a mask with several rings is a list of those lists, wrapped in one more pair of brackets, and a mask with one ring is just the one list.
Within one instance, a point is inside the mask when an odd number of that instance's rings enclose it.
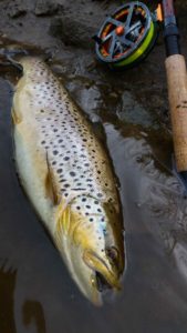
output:
{"label": "open yellowish mouth of the spotted trout", "polygon": [[118,280],[116,270],[108,264],[107,258],[101,258],[90,250],[83,254],[85,264],[95,273],[95,286],[97,291],[121,290],[122,285]]}

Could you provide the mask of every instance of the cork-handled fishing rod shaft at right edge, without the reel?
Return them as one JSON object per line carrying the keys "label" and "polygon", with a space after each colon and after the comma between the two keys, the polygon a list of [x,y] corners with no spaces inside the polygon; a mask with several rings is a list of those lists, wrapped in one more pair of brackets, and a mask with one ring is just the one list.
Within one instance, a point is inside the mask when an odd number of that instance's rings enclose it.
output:
{"label": "cork-handled fishing rod shaft at right edge, without the reel", "polygon": [[174,1],[163,0],[166,75],[175,151],[174,171],[187,193],[187,73],[180,52]]}

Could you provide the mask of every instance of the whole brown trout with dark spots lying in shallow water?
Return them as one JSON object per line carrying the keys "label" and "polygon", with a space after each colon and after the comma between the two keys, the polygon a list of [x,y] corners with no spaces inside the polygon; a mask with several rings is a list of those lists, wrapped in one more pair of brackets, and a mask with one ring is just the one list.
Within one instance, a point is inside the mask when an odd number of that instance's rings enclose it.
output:
{"label": "whole brown trout with dark spots lying in shallow water", "polygon": [[72,279],[93,304],[118,291],[124,228],[111,161],[83,111],[40,58],[19,60],[12,102],[21,185]]}

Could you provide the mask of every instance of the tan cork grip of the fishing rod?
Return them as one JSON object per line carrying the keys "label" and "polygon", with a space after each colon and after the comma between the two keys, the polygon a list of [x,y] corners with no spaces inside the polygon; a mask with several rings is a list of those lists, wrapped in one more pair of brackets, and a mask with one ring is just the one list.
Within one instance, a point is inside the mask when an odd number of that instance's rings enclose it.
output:
{"label": "tan cork grip of the fishing rod", "polygon": [[166,59],[168,98],[177,171],[187,171],[187,73],[180,54]]}

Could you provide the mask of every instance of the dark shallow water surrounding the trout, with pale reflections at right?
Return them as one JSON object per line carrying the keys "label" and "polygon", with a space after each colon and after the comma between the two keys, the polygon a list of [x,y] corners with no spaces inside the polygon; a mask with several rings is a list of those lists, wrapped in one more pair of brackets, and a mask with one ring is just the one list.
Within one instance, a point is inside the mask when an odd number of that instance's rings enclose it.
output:
{"label": "dark shallow water surrounding the trout, with pale reflections at right", "polygon": [[[15,75],[2,73],[11,81]],[[19,185],[12,88],[1,78],[0,333],[187,332],[187,201],[169,171],[170,134],[129,91],[118,103],[117,88],[110,94],[102,80],[83,84],[76,72],[64,83],[106,140],[118,178],[127,249],[123,291],[96,309],[72,282]]]}

